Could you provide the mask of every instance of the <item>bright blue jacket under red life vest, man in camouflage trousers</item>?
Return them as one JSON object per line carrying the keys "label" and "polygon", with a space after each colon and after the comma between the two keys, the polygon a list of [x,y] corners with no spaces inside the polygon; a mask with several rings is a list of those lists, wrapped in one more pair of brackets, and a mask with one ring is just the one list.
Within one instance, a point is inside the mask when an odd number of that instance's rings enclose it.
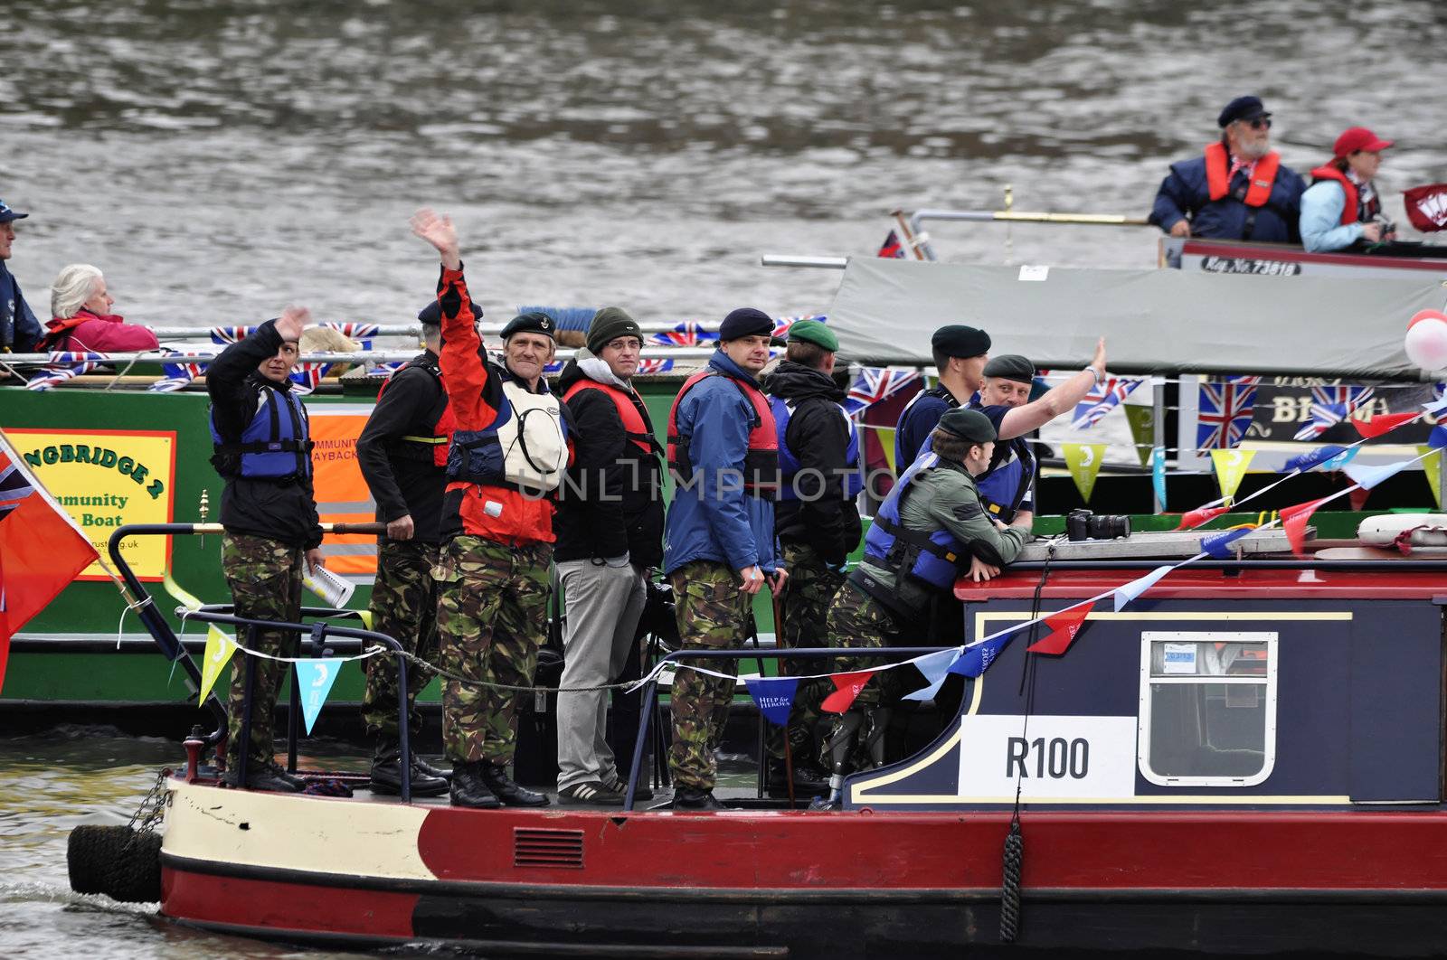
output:
{"label": "bright blue jacket under red life vest, man in camouflage trousers", "polygon": [[[709,359],[709,367],[758,385],[722,350]],[[774,571],[774,502],[750,496],[741,481],[752,419],[754,408],[724,377],[705,377],[679,402],[677,432],[690,437],[695,483],[673,492],[663,532],[663,573],[695,560],[728,564],[729,570],[758,564],[764,573]]]}

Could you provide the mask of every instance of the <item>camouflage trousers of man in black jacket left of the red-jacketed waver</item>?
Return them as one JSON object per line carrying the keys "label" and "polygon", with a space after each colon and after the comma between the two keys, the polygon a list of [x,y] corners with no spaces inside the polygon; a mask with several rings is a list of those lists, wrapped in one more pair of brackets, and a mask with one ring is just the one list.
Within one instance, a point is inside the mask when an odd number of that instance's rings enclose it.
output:
{"label": "camouflage trousers of man in black jacket left of the red-jacketed waver", "polygon": [[[437,544],[382,539],[376,551],[376,584],[372,587],[372,629],[386,633],[408,653],[425,661],[437,658]],[[366,693],[362,694],[362,720],[379,752],[396,749],[396,658],[389,653],[366,662]],[[433,671],[407,664],[407,730],[417,737],[423,714],[417,694],[431,682]]]}

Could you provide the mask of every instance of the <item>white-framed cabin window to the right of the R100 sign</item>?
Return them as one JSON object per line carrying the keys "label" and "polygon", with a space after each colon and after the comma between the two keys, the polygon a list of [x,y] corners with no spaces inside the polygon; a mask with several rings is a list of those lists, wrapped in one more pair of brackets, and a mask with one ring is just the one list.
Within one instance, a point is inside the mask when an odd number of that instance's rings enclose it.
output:
{"label": "white-framed cabin window to the right of the R100 sign", "polygon": [[1140,775],[1160,787],[1255,787],[1276,759],[1276,635],[1146,630]]}

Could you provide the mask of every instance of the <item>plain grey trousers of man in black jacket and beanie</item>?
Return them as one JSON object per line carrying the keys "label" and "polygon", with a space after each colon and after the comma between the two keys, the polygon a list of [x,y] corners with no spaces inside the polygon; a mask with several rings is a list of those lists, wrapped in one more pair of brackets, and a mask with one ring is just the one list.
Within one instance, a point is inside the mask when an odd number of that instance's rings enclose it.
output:
{"label": "plain grey trousers of man in black jacket and beanie", "polygon": [[[563,635],[561,687],[595,687],[616,678],[642,616],[642,575],[625,564],[606,567],[590,560],[557,565],[567,610]],[[557,695],[557,788],[615,775],[614,752],[603,739],[608,691]]]}

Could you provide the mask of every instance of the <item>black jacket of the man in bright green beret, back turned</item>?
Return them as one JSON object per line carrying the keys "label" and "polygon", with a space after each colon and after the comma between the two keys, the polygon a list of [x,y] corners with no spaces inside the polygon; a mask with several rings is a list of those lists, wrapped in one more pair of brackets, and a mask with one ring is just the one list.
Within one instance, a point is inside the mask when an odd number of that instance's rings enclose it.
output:
{"label": "black jacket of the man in bright green beret, back turned", "polygon": [[849,425],[839,409],[845,392],[826,373],[784,360],[764,383],[764,392],[793,403],[784,445],[800,470],[818,470],[825,477],[822,494],[799,484],[799,500],[780,497],[774,503],[774,532],[780,542],[807,544],[825,562],[842,564],[860,545],[860,509],[844,493],[845,453]]}

